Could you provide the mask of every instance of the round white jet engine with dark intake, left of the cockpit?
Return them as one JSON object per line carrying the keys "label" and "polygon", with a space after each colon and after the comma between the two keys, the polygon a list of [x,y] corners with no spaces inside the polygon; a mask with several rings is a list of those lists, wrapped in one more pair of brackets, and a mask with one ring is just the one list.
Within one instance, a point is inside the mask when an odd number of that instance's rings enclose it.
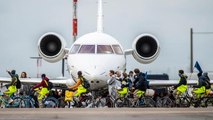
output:
{"label": "round white jet engine with dark intake, left of the cockpit", "polygon": [[47,62],[58,62],[65,56],[65,40],[54,32],[42,35],[38,41],[38,53]]}

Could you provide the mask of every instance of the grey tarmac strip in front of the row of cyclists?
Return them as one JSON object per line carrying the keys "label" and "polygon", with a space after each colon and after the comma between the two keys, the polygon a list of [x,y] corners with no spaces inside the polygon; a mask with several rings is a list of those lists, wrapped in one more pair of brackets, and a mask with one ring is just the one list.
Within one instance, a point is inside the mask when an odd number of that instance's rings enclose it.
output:
{"label": "grey tarmac strip in front of the row of cyclists", "polygon": [[213,108],[0,109],[0,120],[213,120]]}

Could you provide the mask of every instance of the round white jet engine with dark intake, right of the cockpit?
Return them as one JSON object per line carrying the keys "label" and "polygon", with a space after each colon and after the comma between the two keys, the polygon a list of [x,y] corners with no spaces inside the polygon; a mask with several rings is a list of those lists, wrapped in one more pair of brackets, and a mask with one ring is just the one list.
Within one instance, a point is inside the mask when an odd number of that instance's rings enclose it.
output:
{"label": "round white jet engine with dark intake, right of the cockpit", "polygon": [[132,44],[133,57],[140,63],[153,62],[159,55],[160,46],[157,38],[151,34],[137,36]]}

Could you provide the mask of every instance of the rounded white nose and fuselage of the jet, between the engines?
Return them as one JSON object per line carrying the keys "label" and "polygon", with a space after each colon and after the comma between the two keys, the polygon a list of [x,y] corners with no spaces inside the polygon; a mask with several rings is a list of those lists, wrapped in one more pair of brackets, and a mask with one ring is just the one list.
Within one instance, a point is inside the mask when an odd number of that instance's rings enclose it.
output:
{"label": "rounded white nose and fuselage of the jet, between the engines", "polygon": [[[83,46],[93,46],[91,53],[81,53]],[[118,45],[122,54],[116,54],[113,45]],[[74,52],[73,47],[78,46]],[[99,53],[98,47],[109,46],[112,53]],[[90,49],[90,48],[88,48]],[[103,49],[102,49],[103,50]],[[86,51],[88,52],[88,51]],[[82,71],[83,76],[89,80],[91,89],[99,89],[107,85],[109,70],[124,71],[126,68],[126,58],[122,47],[113,37],[104,33],[89,33],[77,39],[68,54],[68,69],[73,79],[76,80],[77,72]]]}

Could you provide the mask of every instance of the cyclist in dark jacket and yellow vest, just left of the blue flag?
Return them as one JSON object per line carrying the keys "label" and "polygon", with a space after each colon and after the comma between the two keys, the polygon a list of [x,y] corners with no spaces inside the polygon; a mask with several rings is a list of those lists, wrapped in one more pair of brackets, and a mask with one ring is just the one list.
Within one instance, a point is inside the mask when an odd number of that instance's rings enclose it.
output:
{"label": "cyclist in dark jacket and yellow vest, just left of the blue flag", "polygon": [[178,71],[178,75],[180,77],[179,79],[179,83],[177,85],[174,86],[175,92],[175,96],[178,97],[179,95],[182,95],[183,93],[186,92],[188,86],[187,86],[187,76],[184,74],[183,70],[179,70]]}

